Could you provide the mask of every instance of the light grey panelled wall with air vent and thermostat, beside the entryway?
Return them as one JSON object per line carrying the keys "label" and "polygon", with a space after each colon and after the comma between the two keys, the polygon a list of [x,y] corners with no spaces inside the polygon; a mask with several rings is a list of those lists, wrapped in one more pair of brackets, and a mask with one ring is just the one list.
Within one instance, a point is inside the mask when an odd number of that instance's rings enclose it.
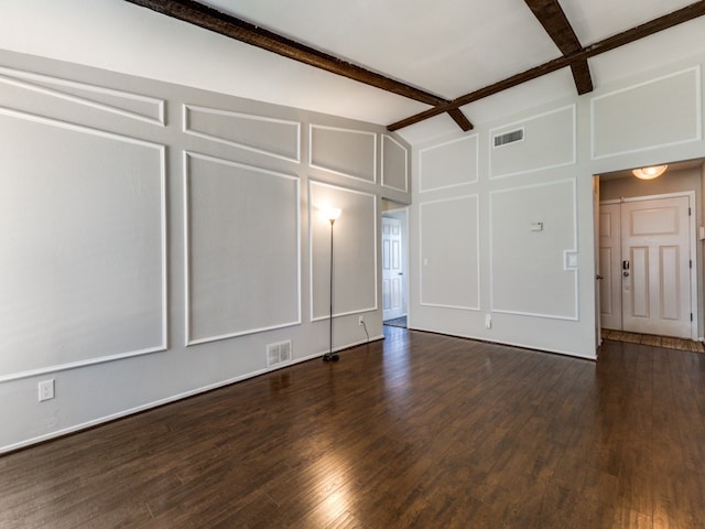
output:
{"label": "light grey panelled wall with air vent and thermostat, beside the entryway", "polygon": [[705,154],[703,63],[414,145],[410,326],[595,358],[593,174]]}

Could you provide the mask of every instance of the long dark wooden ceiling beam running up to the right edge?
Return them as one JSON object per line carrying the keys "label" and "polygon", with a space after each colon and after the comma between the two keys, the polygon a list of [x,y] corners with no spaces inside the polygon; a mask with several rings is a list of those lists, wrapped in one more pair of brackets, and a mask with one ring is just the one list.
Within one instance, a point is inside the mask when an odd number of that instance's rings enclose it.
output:
{"label": "long dark wooden ceiling beam running up to the right edge", "polygon": [[535,66],[520,74],[512,75],[511,77],[486,86],[485,88],[480,88],[479,90],[475,90],[470,94],[466,94],[465,96],[460,96],[449,104],[438,105],[423,112],[391,123],[387,127],[387,129],[390,131],[394,131],[414,123],[419,123],[426,119],[433,118],[434,116],[447,112],[453,108],[463,107],[470,102],[484,99],[488,96],[492,96],[509,88],[513,88],[514,86],[519,86],[523,83],[536,79],[558,69],[572,67],[574,64],[578,64],[583,61],[586,61],[587,58],[600,55],[617,47],[630,44],[646,36],[653,35],[654,33],[658,33],[660,31],[668,30],[684,22],[697,19],[704,14],[705,0],[691,3],[685,8],[673,11],[672,13],[664,14],[663,17],[659,17],[658,19],[654,19],[650,22],[646,22],[643,24],[637,25],[636,28],[622,31],[621,33],[596,42],[595,44],[585,46],[575,53],[563,55],[562,57],[554,58],[553,61],[549,61],[547,63],[544,63],[540,66]]}

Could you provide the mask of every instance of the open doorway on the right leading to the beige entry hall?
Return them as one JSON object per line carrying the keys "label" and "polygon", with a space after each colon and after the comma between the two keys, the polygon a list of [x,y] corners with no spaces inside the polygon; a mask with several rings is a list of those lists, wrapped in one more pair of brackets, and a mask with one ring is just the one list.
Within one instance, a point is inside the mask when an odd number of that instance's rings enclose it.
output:
{"label": "open doorway on the right leading to the beige entry hall", "polygon": [[703,339],[703,160],[670,163],[653,180],[599,175],[598,326]]}

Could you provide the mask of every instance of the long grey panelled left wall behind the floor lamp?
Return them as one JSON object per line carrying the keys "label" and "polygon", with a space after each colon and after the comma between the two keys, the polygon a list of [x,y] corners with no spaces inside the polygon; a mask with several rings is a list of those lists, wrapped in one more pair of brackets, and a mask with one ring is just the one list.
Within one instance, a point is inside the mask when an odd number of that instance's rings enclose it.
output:
{"label": "long grey panelled left wall behind the floor lamp", "polygon": [[328,206],[334,348],[381,337],[382,127],[6,51],[0,99],[0,452],[327,352]]}

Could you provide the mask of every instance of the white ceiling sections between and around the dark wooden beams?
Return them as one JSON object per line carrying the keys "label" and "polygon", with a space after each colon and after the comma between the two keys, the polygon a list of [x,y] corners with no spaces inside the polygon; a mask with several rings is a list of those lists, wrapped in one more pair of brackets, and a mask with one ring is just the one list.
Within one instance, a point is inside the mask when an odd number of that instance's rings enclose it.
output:
{"label": "white ceiling sections between and around the dark wooden beams", "polygon": [[[560,0],[583,45],[692,0]],[[209,6],[453,99],[561,54],[523,0],[208,0]],[[122,0],[3,0],[0,47],[389,125],[426,105]],[[589,60],[596,87],[705,53],[705,17]],[[462,110],[475,123],[575,94],[556,72]],[[447,115],[400,130],[458,131]]]}

